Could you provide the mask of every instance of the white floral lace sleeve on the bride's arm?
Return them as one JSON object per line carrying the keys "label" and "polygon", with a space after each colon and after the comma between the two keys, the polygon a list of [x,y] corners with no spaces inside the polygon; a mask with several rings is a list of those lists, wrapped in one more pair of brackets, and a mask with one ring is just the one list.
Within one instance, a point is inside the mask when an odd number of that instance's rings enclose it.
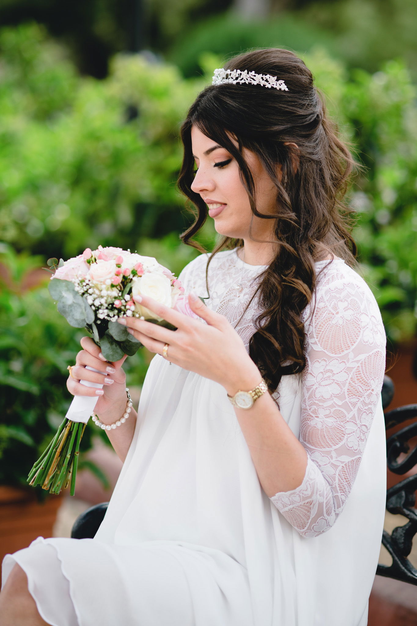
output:
{"label": "white floral lace sleeve on the bride's arm", "polygon": [[385,369],[386,337],[368,285],[343,263],[319,279],[306,321],[299,439],[308,454],[303,483],[271,501],[306,537],[336,521],[366,444]]}

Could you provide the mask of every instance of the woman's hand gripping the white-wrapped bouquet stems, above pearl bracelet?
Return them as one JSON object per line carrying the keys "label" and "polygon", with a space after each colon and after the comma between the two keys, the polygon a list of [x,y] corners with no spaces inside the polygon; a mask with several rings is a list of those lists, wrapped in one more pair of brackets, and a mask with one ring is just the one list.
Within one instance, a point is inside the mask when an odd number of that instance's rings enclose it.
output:
{"label": "woman's hand gripping the white-wrapped bouquet stems, above pearl bracelet", "polygon": [[[76,357],[71,374],[68,376],[67,389],[73,396],[98,397],[98,402],[94,412],[101,418],[102,416],[113,416],[120,413],[126,406],[126,374],[122,369],[126,354],[119,361],[106,361],[101,354],[100,347],[94,343],[90,337],[81,339],[81,347]],[[94,367],[103,374],[92,372],[86,366]],[[107,374],[107,376],[106,376]],[[80,380],[98,382],[103,384],[103,389],[87,387],[81,384]]]}

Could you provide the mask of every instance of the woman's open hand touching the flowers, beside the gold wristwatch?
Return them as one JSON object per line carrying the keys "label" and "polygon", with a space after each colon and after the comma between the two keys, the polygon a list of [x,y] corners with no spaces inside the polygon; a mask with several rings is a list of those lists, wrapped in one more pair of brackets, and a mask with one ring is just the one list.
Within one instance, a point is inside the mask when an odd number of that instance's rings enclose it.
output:
{"label": "woman's open hand touching the flowers, beside the gold wristwatch", "polygon": [[226,317],[206,307],[199,297],[193,299],[190,294],[188,302],[194,313],[207,324],[148,296],[141,298],[141,305],[177,328],[171,331],[138,317],[119,318],[118,322],[128,327],[149,351],[162,355],[167,343],[167,361],[219,382],[229,394],[236,393],[241,388],[239,385],[258,384],[261,374],[246,352],[241,337]]}

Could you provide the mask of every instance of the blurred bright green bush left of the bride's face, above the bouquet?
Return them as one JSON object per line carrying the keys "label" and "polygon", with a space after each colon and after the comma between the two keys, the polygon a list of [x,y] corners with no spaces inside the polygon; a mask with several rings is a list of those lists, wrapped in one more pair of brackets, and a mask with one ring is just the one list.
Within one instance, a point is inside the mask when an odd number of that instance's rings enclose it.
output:
{"label": "blurred bright green bush left of the bride's face, above the bouquet", "polygon": [[186,227],[177,131],[201,81],[140,55],[79,78],[34,25],[1,31],[0,49],[3,240],[66,258]]}

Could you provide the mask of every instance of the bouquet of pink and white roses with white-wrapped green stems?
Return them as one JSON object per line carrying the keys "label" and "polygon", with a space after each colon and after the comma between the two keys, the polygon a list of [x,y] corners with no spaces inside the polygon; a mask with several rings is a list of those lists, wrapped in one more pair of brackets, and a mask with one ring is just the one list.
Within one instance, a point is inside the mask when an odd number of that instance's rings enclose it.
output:
{"label": "bouquet of pink and white roses with white-wrapped green stems", "polygon": [[[71,326],[85,327],[108,361],[118,361],[124,354],[132,356],[143,346],[125,326],[116,323],[118,317],[140,317],[176,330],[134,302],[134,295],[149,295],[157,302],[196,317],[188,307],[181,282],[153,257],[99,245],[94,252],[87,248],[78,257],[61,259],[59,264],[57,259],[49,259],[48,265],[55,270],[49,293],[58,300],[59,312]],[[98,398],[74,396],[56,435],[29,473],[30,485],[41,485],[58,494],[71,481],[70,494],[74,495],[79,443],[97,401]]]}

